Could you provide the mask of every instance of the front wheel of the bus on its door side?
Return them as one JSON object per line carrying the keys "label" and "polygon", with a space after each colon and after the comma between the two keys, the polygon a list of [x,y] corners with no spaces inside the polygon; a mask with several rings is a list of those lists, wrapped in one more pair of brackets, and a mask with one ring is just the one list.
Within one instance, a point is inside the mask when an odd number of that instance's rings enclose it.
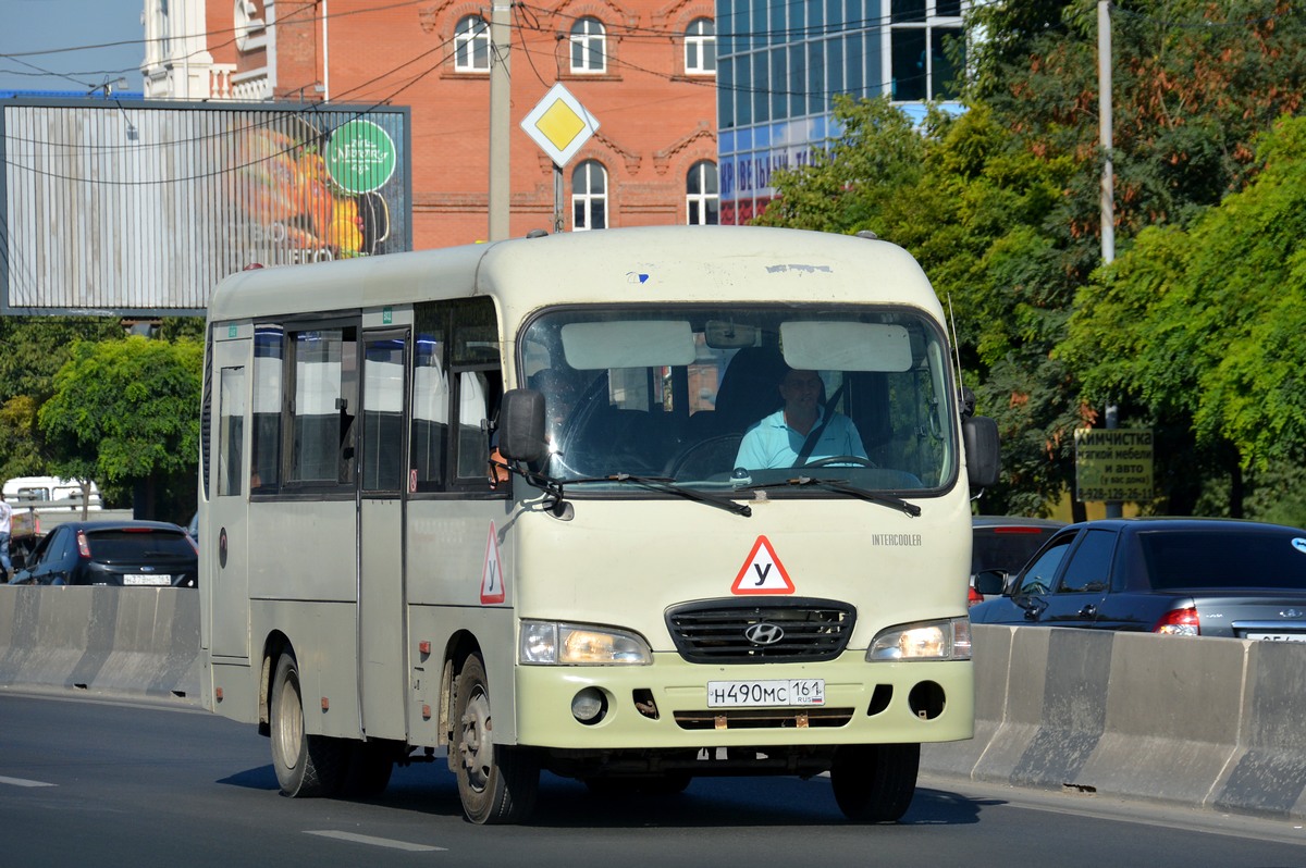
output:
{"label": "front wheel of the bus on its door side", "polygon": [[453,688],[453,745],[458,798],[478,825],[520,822],[539,791],[539,762],[529,751],[494,743],[485,660],[471,654]]}

